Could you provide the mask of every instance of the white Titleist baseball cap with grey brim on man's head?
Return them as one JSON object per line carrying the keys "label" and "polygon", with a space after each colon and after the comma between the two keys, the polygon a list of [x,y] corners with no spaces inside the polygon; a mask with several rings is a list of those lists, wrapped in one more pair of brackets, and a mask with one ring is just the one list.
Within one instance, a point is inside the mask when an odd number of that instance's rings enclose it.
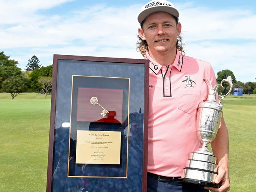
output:
{"label": "white Titleist baseball cap with grey brim on man's head", "polygon": [[176,17],[177,22],[179,21],[179,11],[174,7],[171,2],[166,0],[152,0],[141,8],[140,14],[138,15],[138,22],[141,24],[144,19],[146,19],[152,13],[156,12],[169,13],[170,15]]}

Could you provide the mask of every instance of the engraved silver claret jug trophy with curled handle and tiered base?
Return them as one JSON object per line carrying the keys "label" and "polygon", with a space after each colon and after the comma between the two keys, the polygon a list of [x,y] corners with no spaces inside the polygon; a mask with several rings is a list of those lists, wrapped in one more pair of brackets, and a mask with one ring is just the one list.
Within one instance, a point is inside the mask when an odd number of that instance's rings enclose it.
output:
{"label": "engraved silver claret jug trophy with curled handle and tiered base", "polygon": [[[186,161],[185,168],[181,173],[181,182],[195,183],[200,185],[220,187],[220,184],[213,183],[218,175],[216,157],[207,149],[207,145],[212,142],[218,132],[220,120],[222,116],[221,100],[232,90],[232,78],[223,79],[220,84],[212,87],[210,81],[205,78],[204,81],[208,86],[208,97],[205,102],[199,104],[196,117],[196,132],[202,147],[193,153],[190,153],[189,159]],[[223,82],[230,84],[228,93],[219,96],[219,103],[216,102],[216,93]],[[224,86],[222,86],[224,88]]]}

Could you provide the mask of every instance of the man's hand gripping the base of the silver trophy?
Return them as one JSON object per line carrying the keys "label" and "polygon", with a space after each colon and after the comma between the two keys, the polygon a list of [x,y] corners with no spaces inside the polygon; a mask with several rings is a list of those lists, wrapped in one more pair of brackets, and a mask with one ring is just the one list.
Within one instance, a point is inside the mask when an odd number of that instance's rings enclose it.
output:
{"label": "man's hand gripping the base of the silver trophy", "polygon": [[230,181],[228,176],[228,170],[224,170],[221,167],[218,168],[218,175],[214,180],[214,183],[220,183],[220,188],[208,187],[205,186],[205,189],[208,189],[212,192],[226,192],[230,190]]}

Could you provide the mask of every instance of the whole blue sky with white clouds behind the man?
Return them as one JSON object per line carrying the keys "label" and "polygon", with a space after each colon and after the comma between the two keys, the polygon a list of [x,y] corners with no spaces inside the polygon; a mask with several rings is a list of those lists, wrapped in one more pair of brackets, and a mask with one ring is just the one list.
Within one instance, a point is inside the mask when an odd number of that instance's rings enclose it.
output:
{"label": "whole blue sky with white clouds behind the man", "polygon": [[[146,2],[0,0],[0,51],[22,69],[33,55],[45,66],[53,54],[142,58],[135,50],[136,17]],[[186,55],[210,62],[216,75],[230,69],[237,80],[256,81],[255,1],[172,2]]]}

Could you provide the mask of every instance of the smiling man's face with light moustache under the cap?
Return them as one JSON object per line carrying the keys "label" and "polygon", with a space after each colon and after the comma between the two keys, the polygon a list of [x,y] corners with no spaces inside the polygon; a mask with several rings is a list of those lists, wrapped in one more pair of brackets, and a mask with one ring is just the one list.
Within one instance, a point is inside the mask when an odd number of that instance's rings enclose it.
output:
{"label": "smiling man's face with light moustache under the cap", "polygon": [[149,52],[170,52],[176,50],[181,24],[176,24],[172,15],[158,12],[149,15],[138,32],[142,40],[147,41]]}

